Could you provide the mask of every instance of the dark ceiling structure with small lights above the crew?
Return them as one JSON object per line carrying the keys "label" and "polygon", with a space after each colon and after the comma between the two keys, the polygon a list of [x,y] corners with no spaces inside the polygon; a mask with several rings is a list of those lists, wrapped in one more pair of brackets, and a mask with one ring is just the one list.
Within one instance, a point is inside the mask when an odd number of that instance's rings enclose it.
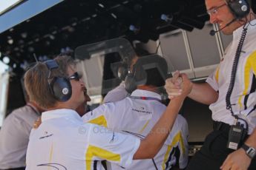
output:
{"label": "dark ceiling structure with small lights above the crew", "polygon": [[22,64],[33,54],[49,58],[116,37],[155,41],[171,30],[202,29],[208,20],[204,0],[65,0],[1,33],[1,59]]}

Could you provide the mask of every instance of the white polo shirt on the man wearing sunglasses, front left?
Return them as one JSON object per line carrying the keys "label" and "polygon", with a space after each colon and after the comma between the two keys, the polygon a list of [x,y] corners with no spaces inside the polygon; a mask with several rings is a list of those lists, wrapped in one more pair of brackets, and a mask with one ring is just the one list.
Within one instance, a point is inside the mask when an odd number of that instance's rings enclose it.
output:
{"label": "white polo shirt on the man wearing sunglasses, front left", "polygon": [[99,160],[127,167],[139,146],[136,137],[83,123],[71,109],[56,109],[43,112],[42,124],[31,132],[26,169],[103,169]]}

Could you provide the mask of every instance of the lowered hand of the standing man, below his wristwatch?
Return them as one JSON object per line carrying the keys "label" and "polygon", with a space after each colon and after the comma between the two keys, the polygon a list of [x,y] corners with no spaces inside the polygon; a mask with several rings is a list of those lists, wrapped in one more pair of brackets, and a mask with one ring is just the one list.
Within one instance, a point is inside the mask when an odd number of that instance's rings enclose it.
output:
{"label": "lowered hand of the standing man, below his wristwatch", "polygon": [[246,152],[243,149],[238,149],[235,152],[229,154],[226,157],[223,165],[220,166],[220,169],[223,170],[247,170],[250,166],[251,158],[246,155]]}

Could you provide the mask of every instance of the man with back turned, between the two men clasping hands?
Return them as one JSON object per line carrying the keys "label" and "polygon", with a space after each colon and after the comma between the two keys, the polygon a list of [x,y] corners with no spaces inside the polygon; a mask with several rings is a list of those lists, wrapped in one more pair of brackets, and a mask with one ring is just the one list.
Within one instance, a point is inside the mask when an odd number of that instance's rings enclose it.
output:
{"label": "man with back turned, between the two men clasping hands", "polygon": [[[97,123],[117,132],[128,132],[143,139],[166,108],[161,102],[161,95],[168,66],[165,58],[148,55],[138,58],[132,68],[125,78],[125,88],[131,95],[120,101],[104,103],[82,118],[85,122]],[[134,160],[126,169],[174,169],[175,165],[185,169],[188,163],[187,137],[188,124],[183,116],[178,115],[160,152],[153,159]],[[111,169],[123,168],[111,164]]]}

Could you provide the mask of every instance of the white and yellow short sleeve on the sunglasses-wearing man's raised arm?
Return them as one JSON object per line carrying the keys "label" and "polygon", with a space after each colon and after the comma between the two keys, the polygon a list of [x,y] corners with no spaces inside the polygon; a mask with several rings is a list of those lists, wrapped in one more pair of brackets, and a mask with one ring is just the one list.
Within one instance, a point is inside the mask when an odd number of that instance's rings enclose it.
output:
{"label": "white and yellow short sleeve on the sunglasses-wearing man's raised arm", "polygon": [[140,146],[140,139],[95,124],[90,125],[86,159],[108,160],[122,167],[129,166]]}

